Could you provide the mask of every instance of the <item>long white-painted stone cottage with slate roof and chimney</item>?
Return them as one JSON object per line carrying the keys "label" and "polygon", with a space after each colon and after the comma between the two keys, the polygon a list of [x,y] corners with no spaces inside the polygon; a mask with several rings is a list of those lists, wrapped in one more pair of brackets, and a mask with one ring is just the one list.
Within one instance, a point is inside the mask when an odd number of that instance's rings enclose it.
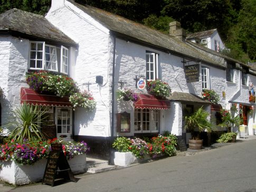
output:
{"label": "long white-painted stone cottage with slate roof and chimney", "polygon": [[[17,9],[3,13],[0,18],[9,19],[0,22],[2,124],[8,122],[10,109],[21,103],[22,87],[27,95],[31,91],[25,74],[40,69],[68,74],[80,89],[89,89],[93,94],[97,102],[93,112],[82,108],[72,110],[67,100],[47,105],[52,108],[52,128],[57,137],[66,135],[85,140],[92,154],[106,159],[110,158],[116,136],[153,136],[168,130],[185,139],[183,117],[188,111],[203,106],[211,112],[216,124],[220,106],[229,109],[231,104],[238,104],[238,108],[239,104],[254,105],[249,102],[248,85],[255,82],[255,72],[237,60],[185,41],[185,33],[177,22],[170,24],[175,28],[166,35],[71,0],[52,0],[45,18]],[[44,64],[35,67],[31,62],[35,45],[44,47],[43,55],[47,54],[46,47],[56,50],[55,70]],[[63,56],[68,58],[67,70],[61,67]],[[199,67],[199,78],[187,83],[184,68],[191,65]],[[159,99],[146,89],[140,90],[138,77],[162,79],[172,88],[172,96]],[[117,101],[116,91],[121,87],[137,93],[137,102]],[[203,100],[202,89],[215,90],[220,95],[220,105]],[[32,102],[29,96],[27,102]],[[44,105],[42,101],[38,103]],[[251,116],[244,109],[245,123],[252,130],[254,114]],[[216,130],[224,129],[216,127]]]}

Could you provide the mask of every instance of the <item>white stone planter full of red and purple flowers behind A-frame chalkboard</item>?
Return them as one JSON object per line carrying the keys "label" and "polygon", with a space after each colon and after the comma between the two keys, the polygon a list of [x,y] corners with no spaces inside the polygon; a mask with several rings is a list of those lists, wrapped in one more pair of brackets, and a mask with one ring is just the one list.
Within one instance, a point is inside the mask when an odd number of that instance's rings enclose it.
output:
{"label": "white stone planter full of red and purple flowers behind A-frame chalkboard", "polygon": [[0,149],[0,179],[13,185],[24,185],[43,178],[51,143],[62,143],[65,156],[74,174],[86,171],[86,153],[89,151],[84,142],[63,142],[63,140],[24,140],[23,143],[11,140]]}

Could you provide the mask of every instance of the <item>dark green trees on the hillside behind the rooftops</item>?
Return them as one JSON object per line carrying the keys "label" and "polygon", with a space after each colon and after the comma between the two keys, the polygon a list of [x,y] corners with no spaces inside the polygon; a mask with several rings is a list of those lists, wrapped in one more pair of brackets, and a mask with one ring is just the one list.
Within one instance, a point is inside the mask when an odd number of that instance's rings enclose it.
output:
{"label": "dark green trees on the hillside behind the rooftops", "polygon": [[[225,54],[245,62],[256,60],[255,0],[74,0],[168,33],[169,22],[181,22],[187,32],[217,28]],[[0,13],[19,8],[44,15],[51,0],[2,0]]]}

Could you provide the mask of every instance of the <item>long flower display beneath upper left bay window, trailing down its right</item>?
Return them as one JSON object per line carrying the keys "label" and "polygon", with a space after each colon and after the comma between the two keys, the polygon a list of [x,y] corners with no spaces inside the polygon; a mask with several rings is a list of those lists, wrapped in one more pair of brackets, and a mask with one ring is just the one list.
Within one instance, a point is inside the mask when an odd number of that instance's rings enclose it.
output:
{"label": "long flower display beneath upper left bay window, trailing down its right", "polygon": [[74,80],[66,75],[54,75],[40,71],[26,75],[26,82],[38,93],[68,96],[74,107],[84,107],[90,111],[96,107],[96,102],[90,93],[80,92]]}

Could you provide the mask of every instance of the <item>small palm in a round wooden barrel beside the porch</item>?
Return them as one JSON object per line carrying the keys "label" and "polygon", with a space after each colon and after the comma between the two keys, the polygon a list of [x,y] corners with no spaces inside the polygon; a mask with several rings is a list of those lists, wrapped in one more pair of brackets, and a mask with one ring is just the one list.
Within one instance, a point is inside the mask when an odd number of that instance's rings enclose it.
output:
{"label": "small palm in a round wooden barrel beside the porch", "polygon": [[212,131],[212,123],[208,120],[208,113],[203,107],[197,109],[191,116],[185,117],[185,129],[189,130],[192,139],[189,139],[189,148],[202,149],[203,140],[200,139],[199,134],[207,130],[208,133]]}

